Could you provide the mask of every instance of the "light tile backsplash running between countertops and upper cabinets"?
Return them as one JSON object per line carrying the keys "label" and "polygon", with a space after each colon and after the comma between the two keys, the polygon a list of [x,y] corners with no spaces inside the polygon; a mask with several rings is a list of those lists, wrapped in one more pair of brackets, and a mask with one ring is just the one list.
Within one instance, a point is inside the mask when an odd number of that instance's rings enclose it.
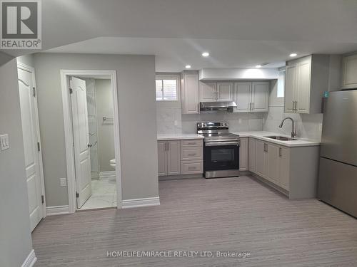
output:
{"label": "light tile backsplash running between countertops and upper cabinets", "polygon": [[278,125],[285,117],[296,122],[298,137],[321,141],[322,114],[289,114],[283,106],[269,106],[269,112],[256,113],[201,113],[182,115],[181,108],[157,108],[158,134],[195,133],[196,123],[201,121],[227,121],[231,132],[268,131],[283,135],[291,134],[291,121],[286,120],[282,128]]}

